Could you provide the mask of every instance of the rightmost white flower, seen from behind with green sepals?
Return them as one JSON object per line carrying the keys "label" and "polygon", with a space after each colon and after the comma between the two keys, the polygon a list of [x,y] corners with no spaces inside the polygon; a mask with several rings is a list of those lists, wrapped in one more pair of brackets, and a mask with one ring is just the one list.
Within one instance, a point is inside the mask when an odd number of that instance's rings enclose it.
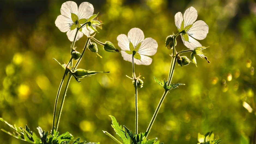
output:
{"label": "rightmost white flower, seen from behind with green sepals", "polygon": [[196,21],[196,19],[197,11],[194,7],[188,8],[185,11],[184,16],[182,16],[181,12],[175,14],[176,27],[180,32],[184,30],[188,35],[188,41],[186,41],[181,34],[182,41],[184,45],[191,50],[196,47],[202,47],[202,45],[196,39],[202,40],[206,38],[209,30],[208,25],[204,21]]}

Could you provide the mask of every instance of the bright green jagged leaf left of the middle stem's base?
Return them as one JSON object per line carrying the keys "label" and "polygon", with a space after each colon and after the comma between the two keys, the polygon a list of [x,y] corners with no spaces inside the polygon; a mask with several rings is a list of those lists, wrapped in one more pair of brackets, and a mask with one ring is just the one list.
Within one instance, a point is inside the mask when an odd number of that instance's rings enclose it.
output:
{"label": "bright green jagged leaf left of the middle stem's base", "polygon": [[121,125],[118,124],[117,120],[115,117],[109,115],[112,120],[112,128],[114,128],[114,131],[116,134],[121,138],[121,140],[124,142],[124,144],[130,144],[130,138],[129,136],[126,135],[124,128],[122,128]]}

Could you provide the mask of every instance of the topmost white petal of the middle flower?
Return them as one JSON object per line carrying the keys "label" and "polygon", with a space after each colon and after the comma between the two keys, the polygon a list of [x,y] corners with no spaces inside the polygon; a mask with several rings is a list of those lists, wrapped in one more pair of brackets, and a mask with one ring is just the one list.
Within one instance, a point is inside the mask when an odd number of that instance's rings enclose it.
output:
{"label": "topmost white petal of the middle flower", "polygon": [[144,40],[144,33],[139,28],[130,29],[127,36],[134,47]]}

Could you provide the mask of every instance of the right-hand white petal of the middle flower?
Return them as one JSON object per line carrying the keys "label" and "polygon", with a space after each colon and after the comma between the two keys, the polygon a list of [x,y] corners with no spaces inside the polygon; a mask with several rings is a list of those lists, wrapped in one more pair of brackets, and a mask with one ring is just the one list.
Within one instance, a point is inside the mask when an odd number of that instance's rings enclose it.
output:
{"label": "right-hand white petal of the middle flower", "polygon": [[157,42],[153,38],[145,38],[141,43],[141,47],[138,50],[139,54],[146,56],[153,56],[157,51]]}

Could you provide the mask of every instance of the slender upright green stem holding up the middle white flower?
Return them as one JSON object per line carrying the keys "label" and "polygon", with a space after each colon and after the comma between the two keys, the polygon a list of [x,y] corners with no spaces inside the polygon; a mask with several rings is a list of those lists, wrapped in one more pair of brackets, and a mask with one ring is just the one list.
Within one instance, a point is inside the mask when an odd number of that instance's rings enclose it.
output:
{"label": "slender upright green stem holding up the middle white flower", "polygon": [[135,133],[138,134],[138,88],[137,88],[137,79],[135,77],[135,72],[134,72],[134,54],[132,54],[132,74],[133,74],[133,79],[135,82]]}

